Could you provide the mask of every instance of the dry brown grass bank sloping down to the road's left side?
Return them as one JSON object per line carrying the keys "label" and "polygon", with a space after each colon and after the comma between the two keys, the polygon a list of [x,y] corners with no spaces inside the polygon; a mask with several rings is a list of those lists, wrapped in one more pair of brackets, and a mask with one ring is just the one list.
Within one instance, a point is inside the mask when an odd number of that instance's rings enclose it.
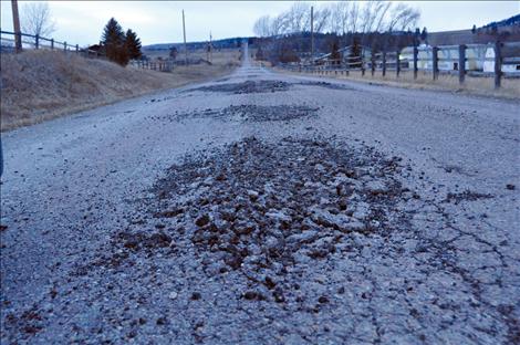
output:
{"label": "dry brown grass bank sloping down to the road's left side", "polygon": [[51,51],[1,54],[1,130],[230,73],[238,61],[173,73]]}

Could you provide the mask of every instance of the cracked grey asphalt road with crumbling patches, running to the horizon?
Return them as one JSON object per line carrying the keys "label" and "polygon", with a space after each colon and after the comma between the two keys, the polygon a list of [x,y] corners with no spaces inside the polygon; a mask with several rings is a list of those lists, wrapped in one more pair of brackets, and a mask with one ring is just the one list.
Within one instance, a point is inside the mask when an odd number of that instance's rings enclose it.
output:
{"label": "cracked grey asphalt road with crumbling patches, running to the horizon", "polygon": [[2,134],[2,344],[516,344],[519,103],[231,76]]}

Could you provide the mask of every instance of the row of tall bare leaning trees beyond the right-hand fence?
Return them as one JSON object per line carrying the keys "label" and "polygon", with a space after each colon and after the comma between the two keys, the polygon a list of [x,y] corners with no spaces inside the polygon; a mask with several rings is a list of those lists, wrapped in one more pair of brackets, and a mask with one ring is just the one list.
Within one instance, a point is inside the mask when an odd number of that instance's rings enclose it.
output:
{"label": "row of tall bare leaning trees beyond the right-hand fence", "polygon": [[[420,13],[406,3],[383,0],[321,3],[313,8],[315,52],[337,56],[340,46],[351,45],[351,54],[361,46],[374,52],[417,43],[427,35],[426,28],[416,29]],[[298,62],[311,50],[311,4],[295,2],[274,17],[259,18],[253,25],[258,39],[257,59]],[[424,39],[423,39],[424,40]]]}

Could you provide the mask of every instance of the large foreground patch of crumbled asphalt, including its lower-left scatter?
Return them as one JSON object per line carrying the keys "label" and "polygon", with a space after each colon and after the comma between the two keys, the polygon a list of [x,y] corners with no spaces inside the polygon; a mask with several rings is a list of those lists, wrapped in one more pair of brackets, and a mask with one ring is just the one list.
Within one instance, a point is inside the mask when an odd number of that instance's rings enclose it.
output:
{"label": "large foreground patch of crumbled asphalt, including its lower-left scatter", "polygon": [[155,229],[134,221],[114,239],[116,254],[97,264],[175,251],[206,276],[240,272],[246,286],[229,286],[239,300],[297,303],[300,280],[291,272],[351,250],[345,239],[354,233],[387,236],[407,223],[396,212],[398,161],[324,139],[254,137],[188,156],[142,205]]}

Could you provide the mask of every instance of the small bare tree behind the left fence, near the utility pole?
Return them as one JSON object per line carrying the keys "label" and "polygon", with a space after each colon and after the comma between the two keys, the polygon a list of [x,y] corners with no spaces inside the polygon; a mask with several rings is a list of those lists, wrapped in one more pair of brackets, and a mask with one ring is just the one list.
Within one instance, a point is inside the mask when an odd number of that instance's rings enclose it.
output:
{"label": "small bare tree behind the left fence, near the utility pole", "polygon": [[52,20],[49,3],[25,3],[21,12],[22,32],[40,36],[49,36],[54,32],[55,23]]}

